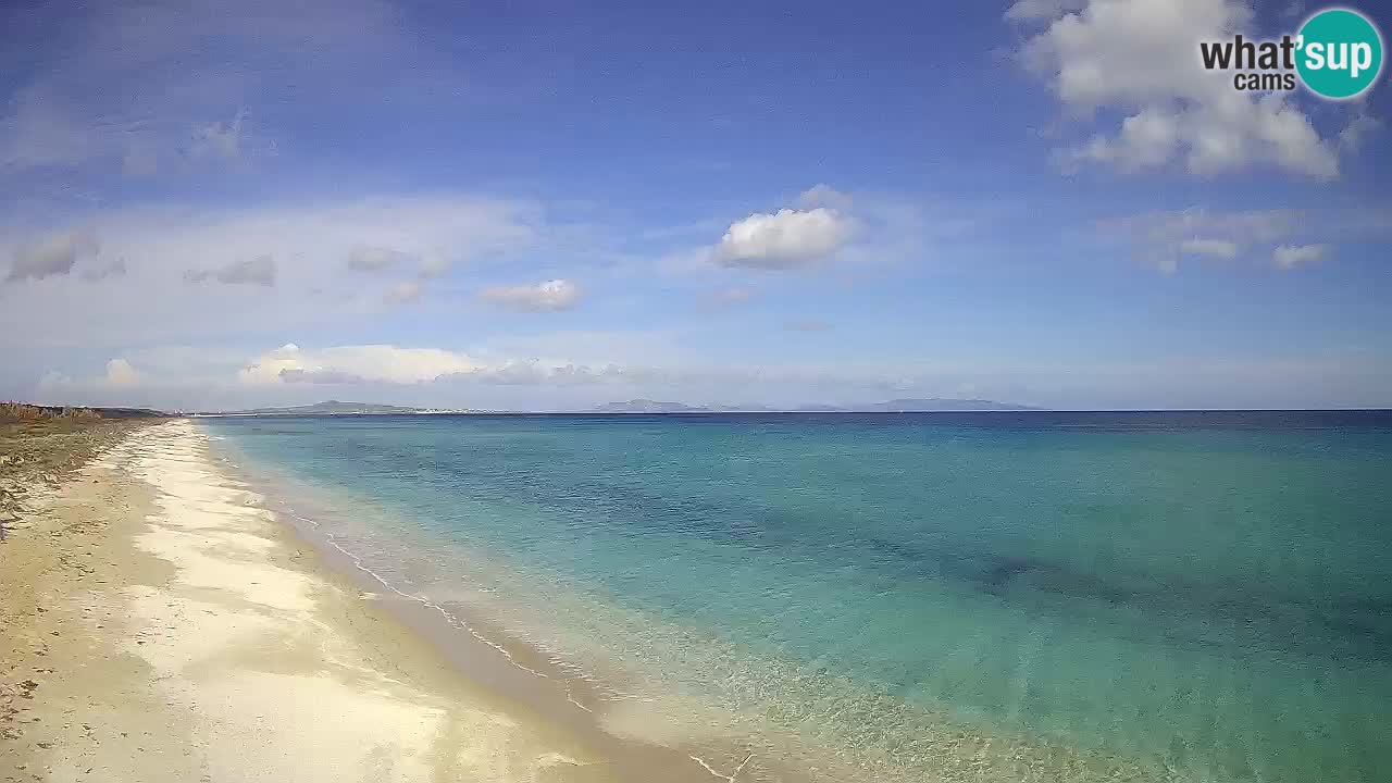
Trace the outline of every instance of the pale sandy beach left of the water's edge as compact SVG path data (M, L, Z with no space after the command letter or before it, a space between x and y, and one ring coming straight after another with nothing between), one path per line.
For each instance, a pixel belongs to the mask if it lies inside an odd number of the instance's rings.
M4 780L713 779L461 676L191 422L109 440L0 543Z

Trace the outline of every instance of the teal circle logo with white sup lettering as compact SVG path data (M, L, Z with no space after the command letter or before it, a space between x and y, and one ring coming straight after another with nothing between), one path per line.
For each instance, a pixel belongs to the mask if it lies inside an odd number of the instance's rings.
M1296 47L1300 79L1334 100L1363 95L1382 71L1382 35L1367 17L1349 8L1327 8L1310 17Z

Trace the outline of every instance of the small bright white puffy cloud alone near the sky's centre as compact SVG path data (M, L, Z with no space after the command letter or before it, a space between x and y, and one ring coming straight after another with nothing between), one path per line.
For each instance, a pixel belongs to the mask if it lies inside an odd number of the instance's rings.
M724 266L793 269L835 254L853 233L851 217L825 206L756 212L729 226L714 258Z

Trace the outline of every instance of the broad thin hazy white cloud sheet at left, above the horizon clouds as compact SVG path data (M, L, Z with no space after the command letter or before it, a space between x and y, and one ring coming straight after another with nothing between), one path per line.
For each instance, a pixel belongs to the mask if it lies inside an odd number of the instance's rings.
M26 339L49 346L124 350L170 334L226 339L356 319L381 311L386 291L344 274L355 248L391 248L411 258L441 252L461 261L507 256L546 235L540 215L536 203L458 194L241 209L132 206L86 215L77 220L79 230L61 231L7 226L0 213L0 259L35 259L22 261L18 277L71 272L6 298L0 346L15 334L11 325L24 323L43 325L42 334ZM93 242L100 237L102 252L77 254L68 268L68 248L84 247L84 235ZM52 265L38 263L40 256ZM258 261L263 258L271 261ZM103 265L111 259L124 262ZM7 272L0 268L0 276ZM274 286L264 284L270 280ZM14 287L0 284L0 295ZM258 295L230 295L230 288ZM63 318L54 318L58 312Z

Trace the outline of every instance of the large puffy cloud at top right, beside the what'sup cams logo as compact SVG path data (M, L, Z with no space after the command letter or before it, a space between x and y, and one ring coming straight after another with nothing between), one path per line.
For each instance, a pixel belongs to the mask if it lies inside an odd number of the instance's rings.
M1194 174L1247 166L1331 180L1339 145L1321 138L1282 93L1244 93L1205 71L1201 40L1251 33L1253 11L1239 0L1022 0L1008 18L1043 22L1020 50L1079 116L1098 109L1123 117L1111 132L1059 150L1065 166L1101 163L1123 171L1182 163Z

